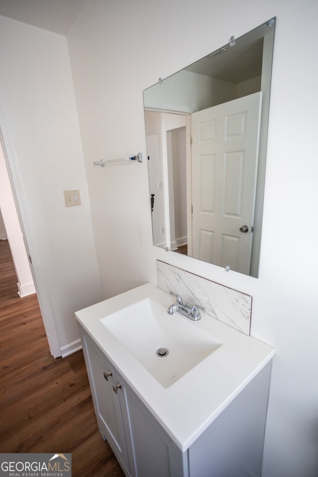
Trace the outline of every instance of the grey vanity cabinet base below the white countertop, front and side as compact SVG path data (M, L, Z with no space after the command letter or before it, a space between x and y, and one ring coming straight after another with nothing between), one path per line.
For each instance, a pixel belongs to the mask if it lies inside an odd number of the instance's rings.
M271 361L182 451L87 332L79 328L99 430L128 477L260 476ZM203 380L197 393L204 392ZM168 405L173 409L182 402ZM184 419L195 406L193 401Z

